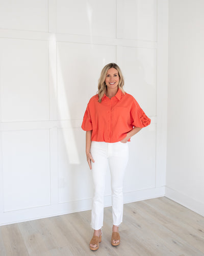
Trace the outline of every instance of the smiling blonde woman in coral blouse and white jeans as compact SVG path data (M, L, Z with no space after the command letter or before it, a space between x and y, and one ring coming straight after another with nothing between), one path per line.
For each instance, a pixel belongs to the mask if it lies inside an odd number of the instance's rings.
M123 177L129 148L127 141L142 127L150 124L133 96L123 90L124 79L115 63L106 65L98 80L98 93L87 105L82 123L86 131L86 156L92 169L94 197L91 227L94 229L90 249L97 250L101 242L104 219L104 191L109 164L112 189L113 228L111 244L120 243L118 226L123 215Z

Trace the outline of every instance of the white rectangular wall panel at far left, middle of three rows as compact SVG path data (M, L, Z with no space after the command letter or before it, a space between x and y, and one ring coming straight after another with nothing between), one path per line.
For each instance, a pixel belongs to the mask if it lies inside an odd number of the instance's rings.
M0 38L2 122L49 120L48 42Z

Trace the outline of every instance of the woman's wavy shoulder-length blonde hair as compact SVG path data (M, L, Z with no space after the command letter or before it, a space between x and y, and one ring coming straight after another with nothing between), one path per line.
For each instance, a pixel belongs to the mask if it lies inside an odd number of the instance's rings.
M121 72L120 68L118 67L118 65L116 63L109 63L103 68L103 70L101 71L101 74L100 74L100 78L98 79L98 92L97 92L98 93L98 102L101 102L101 99L103 98L104 94L106 93L107 86L105 83L105 79L106 79L107 71L111 68L114 68L118 71L118 75L119 75L118 89L120 89L122 91L122 93L125 94L124 90L122 89L122 87L124 86L124 78L122 76L122 72Z

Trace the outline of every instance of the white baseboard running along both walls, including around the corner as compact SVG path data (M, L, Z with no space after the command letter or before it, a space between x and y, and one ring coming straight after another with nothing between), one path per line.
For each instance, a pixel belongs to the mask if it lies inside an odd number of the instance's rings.
M204 216L203 202L198 202L195 199L192 199L168 186L124 192L124 204L163 196L166 196L167 198L197 212L197 214ZM0 225L7 225L23 221L70 214L78 211L90 210L91 201L91 199L85 199L57 205L47 205L36 208L4 212L0 214ZM110 195L105 196L105 207L108 206L111 206Z

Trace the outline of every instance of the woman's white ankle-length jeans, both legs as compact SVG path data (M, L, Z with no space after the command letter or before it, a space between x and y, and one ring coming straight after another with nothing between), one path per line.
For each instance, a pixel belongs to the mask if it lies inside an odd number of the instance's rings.
M91 227L95 230L100 229L104 221L104 192L108 164L111 173L113 225L118 226L122 222L122 187L125 168L129 158L127 143L91 142L90 152L95 161L94 163L91 162L94 186Z

